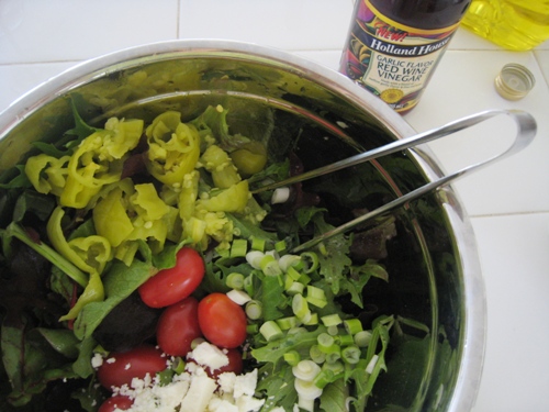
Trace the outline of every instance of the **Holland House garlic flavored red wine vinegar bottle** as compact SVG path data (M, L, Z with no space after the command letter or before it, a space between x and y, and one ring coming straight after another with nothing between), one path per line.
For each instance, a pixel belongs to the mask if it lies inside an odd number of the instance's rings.
M412 110L470 0L356 0L339 71L399 113Z

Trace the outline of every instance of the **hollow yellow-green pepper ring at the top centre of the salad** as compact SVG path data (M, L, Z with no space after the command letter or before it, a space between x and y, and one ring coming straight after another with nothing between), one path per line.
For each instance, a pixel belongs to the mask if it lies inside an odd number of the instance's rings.
M166 185L181 182L200 157L197 129L181 122L181 113L168 111L158 115L146 130L147 169Z

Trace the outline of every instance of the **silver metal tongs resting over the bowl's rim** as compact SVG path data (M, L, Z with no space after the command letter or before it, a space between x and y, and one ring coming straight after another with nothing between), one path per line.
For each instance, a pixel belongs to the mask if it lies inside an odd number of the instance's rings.
M360 223L363 223L370 219L373 219L373 218L376 218L384 212L388 212L396 207L403 205L403 204L410 202L411 200L417 199L417 198L419 198L419 197L422 197L422 196L424 196L433 190L436 190L445 185L448 185L450 181L456 180L459 177L464 176L466 174L472 172L474 170L479 170L480 168L485 167L489 164L494 163L495 160L501 160L505 157L508 157L513 154L518 153L519 151L525 148L528 144L530 144L530 142L534 140L534 136L536 135L537 125L536 125L535 119L529 113L520 111L520 110L488 110L488 111L479 112L479 113L472 114L470 116L466 116L466 118L456 120L453 122L447 123L446 125L442 125L438 129L434 129L434 130L430 130L430 131L427 131L424 133L419 133L419 134L416 134L416 135L413 135L410 137L405 137L405 138L389 143L384 146L377 147L377 148L373 148L371 151L360 153L358 155L355 155L355 156L348 157L346 159L333 163L330 165L323 166L323 167L320 167L317 169L303 172L301 175L292 176L288 179L278 181L276 183L269 183L269 185L262 186L258 189L255 189L253 192L259 193L259 192L262 192L266 190L272 190L272 189L277 189L277 188L281 188L281 187L287 187L287 186L296 183L299 181L304 181L304 180L309 180L309 179L312 179L312 178L315 178L318 176L327 175L327 174L344 169L344 168L349 167L349 166L355 166L355 165L361 164L363 162L373 160L378 157L389 155L389 154L392 154L392 153L395 153L399 151L412 148L412 147L417 146L419 144L433 142L437 138L440 138L440 137L450 135L452 133L459 132L463 129L473 126L478 123L481 123L485 120L489 120L489 119L496 116L496 115L500 115L500 114L506 114L506 115L513 118L513 120L517 124L517 134L515 136L515 141L513 142L511 147L508 147L505 152L503 152L498 155L495 155L495 156L493 156L484 162L463 167L462 169L459 169L452 174L442 176L437 180L428 182L428 183L426 183L426 185L424 185L424 186L422 186L422 187L419 187L419 188L417 188L417 189L415 189L406 194L403 194L403 196L396 198L395 200L393 200L389 203L383 204L382 207L380 207L371 212L362 214L359 218L354 219L354 220L351 220L351 221L349 221L349 222L347 222L338 227L335 227L334 230L332 230L329 232L326 232L324 234L315 236L311 241L302 243L301 245L294 247L292 252L295 253L295 252L304 250L304 249L307 249L307 248L310 248L310 247L318 244L320 242L323 242L332 236L345 233Z

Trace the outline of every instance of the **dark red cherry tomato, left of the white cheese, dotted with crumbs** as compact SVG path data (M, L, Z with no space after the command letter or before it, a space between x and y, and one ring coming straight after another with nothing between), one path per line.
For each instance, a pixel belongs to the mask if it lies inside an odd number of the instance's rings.
M111 353L98 369L99 382L111 389L130 385L133 378L152 377L166 369L166 356L150 345L137 346L123 353Z

